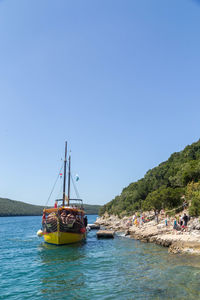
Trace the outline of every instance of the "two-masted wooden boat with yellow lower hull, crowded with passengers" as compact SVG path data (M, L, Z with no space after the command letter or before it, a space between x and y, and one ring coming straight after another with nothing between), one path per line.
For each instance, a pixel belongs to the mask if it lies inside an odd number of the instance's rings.
M48 244L66 245L86 239L87 217L84 213L82 199L70 198L71 155L68 159L68 194L66 187L67 142L65 142L63 197L55 201L54 207L44 208L42 229L37 235L44 237Z

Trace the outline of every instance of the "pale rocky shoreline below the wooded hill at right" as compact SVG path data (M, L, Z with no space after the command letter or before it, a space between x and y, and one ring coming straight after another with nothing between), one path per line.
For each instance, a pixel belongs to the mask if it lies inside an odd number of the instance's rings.
M159 224L155 220L151 220L136 226L132 224L132 217L120 219L117 216L105 214L97 218L95 224L115 232L124 232L130 238L142 242L168 247L170 253L200 254L200 222L198 218L191 218L187 228L183 231L173 229L172 222L166 226L162 218L160 218Z

